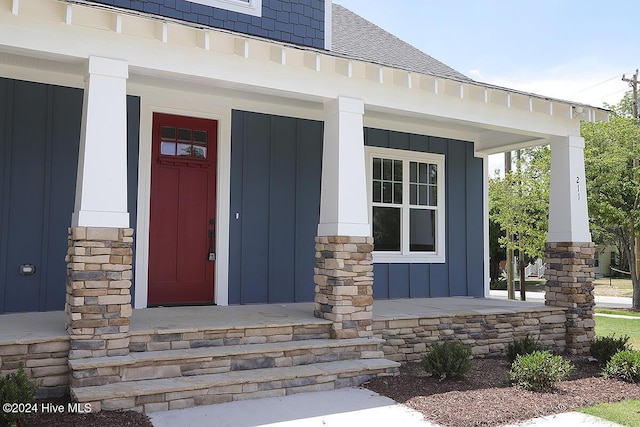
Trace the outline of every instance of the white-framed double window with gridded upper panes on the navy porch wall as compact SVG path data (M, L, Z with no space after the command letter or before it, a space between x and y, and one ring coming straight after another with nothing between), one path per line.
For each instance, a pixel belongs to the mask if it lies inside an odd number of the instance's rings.
M445 262L445 157L367 147L374 262Z

